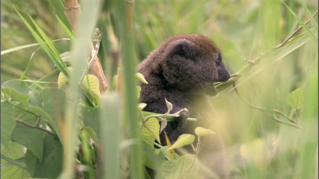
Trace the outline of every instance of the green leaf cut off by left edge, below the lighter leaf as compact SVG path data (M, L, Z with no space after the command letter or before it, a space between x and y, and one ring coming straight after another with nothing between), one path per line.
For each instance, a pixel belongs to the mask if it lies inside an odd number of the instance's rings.
M14 109L8 102L1 102L1 145L8 148L10 136L16 125L13 119Z

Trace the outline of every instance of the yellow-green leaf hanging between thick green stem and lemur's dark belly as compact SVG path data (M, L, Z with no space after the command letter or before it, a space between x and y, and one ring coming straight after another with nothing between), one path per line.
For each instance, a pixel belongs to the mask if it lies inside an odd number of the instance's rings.
M143 140L151 146L154 145L150 141L154 141L155 139L160 143L160 123L157 118L149 118L142 128L141 134ZM149 139L150 141L148 141L147 139Z

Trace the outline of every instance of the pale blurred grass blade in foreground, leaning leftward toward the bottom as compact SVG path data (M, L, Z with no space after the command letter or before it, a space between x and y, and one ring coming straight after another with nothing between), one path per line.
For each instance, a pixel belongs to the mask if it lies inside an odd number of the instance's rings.
M87 58L90 53L91 37L93 29L102 7L101 0L85 0L82 4L83 11L79 16L78 30L75 34L75 41L72 47L72 73L70 80L70 98L77 99L80 97L79 82L87 66ZM65 133L63 138L64 159L63 171L60 179L72 179L74 177L74 157L77 133L75 122L78 121L76 114L77 102L68 103L66 115L64 116Z

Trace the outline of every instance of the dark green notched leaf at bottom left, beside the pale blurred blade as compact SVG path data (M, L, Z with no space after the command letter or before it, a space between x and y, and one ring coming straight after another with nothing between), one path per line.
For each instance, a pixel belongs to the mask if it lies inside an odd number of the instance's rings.
M62 171L63 148L59 139L49 134L44 138L43 161L27 150L25 163L32 178L57 178Z

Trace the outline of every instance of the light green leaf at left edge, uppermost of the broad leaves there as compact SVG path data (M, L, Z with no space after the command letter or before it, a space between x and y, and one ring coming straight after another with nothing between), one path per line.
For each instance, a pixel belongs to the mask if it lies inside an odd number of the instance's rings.
M14 79L6 81L2 84L1 91L6 93L12 100L27 103L29 99L29 91L31 89L25 82Z

